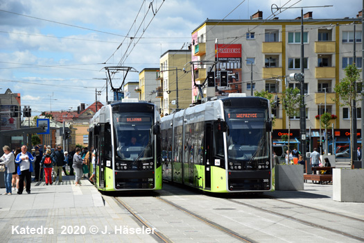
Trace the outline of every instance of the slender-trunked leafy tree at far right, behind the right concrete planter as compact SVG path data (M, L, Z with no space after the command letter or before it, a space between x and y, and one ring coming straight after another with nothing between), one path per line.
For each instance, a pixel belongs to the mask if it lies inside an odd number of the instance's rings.
M353 101L361 101L360 97L358 97L356 93L356 83L360 82L360 72L355 64L349 65L344 69L345 77L341 80L341 82L333 87L333 90L338 94L339 100L336 102L339 103L339 106L349 106L349 114L350 114L350 147L351 151L355 153L355 146L353 142ZM363 85L363 84L361 84ZM355 134L356 135L356 134ZM354 151L354 152L353 152ZM351 164L353 165L353 156L350 159Z

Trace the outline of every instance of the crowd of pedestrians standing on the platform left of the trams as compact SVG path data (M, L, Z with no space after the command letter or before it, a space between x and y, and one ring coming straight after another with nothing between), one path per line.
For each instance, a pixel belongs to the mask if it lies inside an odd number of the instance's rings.
M85 160L80 156L81 149L70 153L62 151L61 146L57 146L55 151L51 151L51 146L45 146L43 151L40 146L35 146L34 152L28 151L28 146L11 151L10 146L3 146L3 156L0 157L0 165L5 167L4 181L6 192L3 195L23 194L24 190L31 193L31 173L34 171L34 181L42 181L43 172L46 185L52 185L58 177L62 182L62 171L67 175L65 165L70 166L69 175L73 176L76 171L76 185L80 185L80 178L83 176L83 164ZM34 168L33 168L34 163Z

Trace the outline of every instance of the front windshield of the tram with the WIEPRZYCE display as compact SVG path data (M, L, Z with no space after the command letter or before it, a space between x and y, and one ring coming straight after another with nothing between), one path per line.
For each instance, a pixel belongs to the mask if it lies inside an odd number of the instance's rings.
M259 162L269 158L267 110L228 108L225 117L228 161L240 163L242 169L257 169Z

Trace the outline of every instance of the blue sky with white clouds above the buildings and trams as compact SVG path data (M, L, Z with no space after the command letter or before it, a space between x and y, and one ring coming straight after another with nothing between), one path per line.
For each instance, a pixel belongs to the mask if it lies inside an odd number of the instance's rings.
M138 72L159 67L160 56L187 49L191 33L208 19L263 19L272 6L304 8L313 19L356 17L359 0L0 0L0 93L21 94L32 115L77 110L80 103L105 104L105 69L123 65ZM300 8L276 12L279 19L300 16ZM138 82L138 72L125 82ZM123 73L116 74L119 87ZM109 100L112 96L109 85Z

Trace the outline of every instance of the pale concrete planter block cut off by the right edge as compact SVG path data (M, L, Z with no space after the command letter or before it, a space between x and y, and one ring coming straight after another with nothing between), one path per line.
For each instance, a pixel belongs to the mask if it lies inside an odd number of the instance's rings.
M364 169L333 169L333 200L364 203Z

